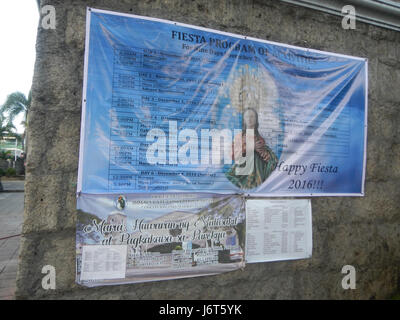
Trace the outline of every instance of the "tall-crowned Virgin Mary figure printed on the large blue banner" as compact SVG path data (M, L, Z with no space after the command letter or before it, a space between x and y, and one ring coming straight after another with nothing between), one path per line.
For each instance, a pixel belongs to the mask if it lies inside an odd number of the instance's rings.
M275 170L278 157L267 145L265 139L259 132L259 115L257 110L263 108L262 92L265 83L254 74L249 73L248 68L234 82L231 88L231 103L237 110L242 111L242 132L234 137L232 145L232 159L234 164L225 172L228 180L240 189L253 189L260 186ZM235 97L237 97L235 101ZM246 132L252 129L254 133L254 144L247 146ZM250 136L251 137L251 136ZM248 138L247 138L248 139ZM247 154L250 153L250 154ZM253 161L252 170L248 174L238 174L246 166L246 163L235 163L235 160L246 158L246 161ZM248 165L248 164L247 164Z

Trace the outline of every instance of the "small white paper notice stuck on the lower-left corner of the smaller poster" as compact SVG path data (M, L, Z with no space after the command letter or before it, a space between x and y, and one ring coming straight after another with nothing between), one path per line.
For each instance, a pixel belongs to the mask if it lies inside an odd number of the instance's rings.
M125 278L126 255L126 245L83 246L81 280Z

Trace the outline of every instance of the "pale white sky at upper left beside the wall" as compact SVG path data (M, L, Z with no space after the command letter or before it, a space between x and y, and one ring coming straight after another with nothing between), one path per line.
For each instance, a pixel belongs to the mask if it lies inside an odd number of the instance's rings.
M7 95L21 91L26 96L32 86L39 10L35 0L1 1L0 6L0 105ZM14 121L18 133L22 115Z

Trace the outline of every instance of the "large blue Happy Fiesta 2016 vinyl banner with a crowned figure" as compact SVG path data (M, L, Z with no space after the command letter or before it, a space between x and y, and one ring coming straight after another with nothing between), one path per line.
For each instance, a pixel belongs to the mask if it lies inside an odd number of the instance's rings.
M79 192L363 195L366 59L88 10Z

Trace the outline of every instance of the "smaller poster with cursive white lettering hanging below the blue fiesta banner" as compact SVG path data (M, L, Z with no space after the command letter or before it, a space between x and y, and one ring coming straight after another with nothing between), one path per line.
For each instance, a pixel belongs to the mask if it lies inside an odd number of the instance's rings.
M80 194L77 203L79 284L197 277L245 266L242 196Z

